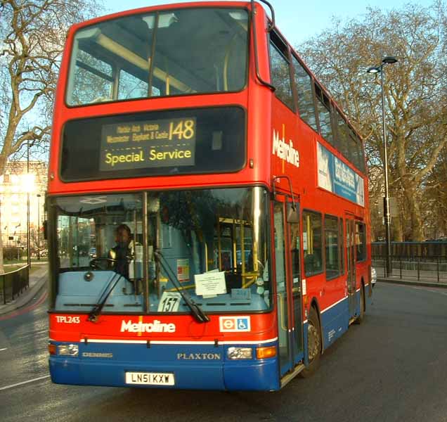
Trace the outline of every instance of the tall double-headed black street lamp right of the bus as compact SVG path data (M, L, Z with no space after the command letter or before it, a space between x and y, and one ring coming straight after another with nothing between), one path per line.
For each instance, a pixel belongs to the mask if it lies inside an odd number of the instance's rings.
M385 122L385 99L384 99L384 65L397 63L393 56L386 56L382 59L382 64L377 67L369 68L366 72L377 75L380 73L380 88L382 91L382 129L383 129L383 151L384 151L384 177L385 177L385 197L383 201L383 213L385 219L385 240L387 242L387 276L391 276L391 215L389 212L389 188L388 188L388 153L387 153L387 126Z

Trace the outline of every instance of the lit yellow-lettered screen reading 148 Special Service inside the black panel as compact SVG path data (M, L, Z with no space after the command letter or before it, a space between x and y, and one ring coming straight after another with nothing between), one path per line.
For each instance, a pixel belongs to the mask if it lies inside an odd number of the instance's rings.
M99 170L195 165L195 117L105 124Z

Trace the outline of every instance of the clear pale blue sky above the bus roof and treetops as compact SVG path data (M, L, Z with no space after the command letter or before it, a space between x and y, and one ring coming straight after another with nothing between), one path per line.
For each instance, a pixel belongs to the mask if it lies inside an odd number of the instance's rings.
M158 4L187 3L190 0L108 0L106 8L110 13L157 6ZM342 21L361 18L368 6L389 11L401 9L405 4L421 6L433 4L433 0L270 0L275 9L276 26L293 46L319 34L332 26L332 18Z

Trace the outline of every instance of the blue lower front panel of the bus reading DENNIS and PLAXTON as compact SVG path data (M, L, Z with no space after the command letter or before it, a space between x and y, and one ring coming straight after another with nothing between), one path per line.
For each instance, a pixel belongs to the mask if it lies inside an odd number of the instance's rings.
M51 343L56 346L67 344ZM53 383L200 390L265 391L280 388L276 357L230 360L226 359L228 347L224 345L77 344L78 357L50 357ZM240 346L253 347L256 356L254 346ZM172 373L174 385L127 384L127 372Z

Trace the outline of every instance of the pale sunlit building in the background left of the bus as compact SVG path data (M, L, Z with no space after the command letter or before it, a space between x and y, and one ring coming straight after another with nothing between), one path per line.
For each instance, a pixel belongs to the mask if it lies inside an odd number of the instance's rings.
M30 161L27 173L26 161L8 162L0 177L1 236L4 248L27 245L27 193L30 193L30 250L46 253L42 221L48 166L44 161ZM39 245L39 247L38 247Z

